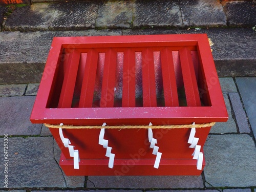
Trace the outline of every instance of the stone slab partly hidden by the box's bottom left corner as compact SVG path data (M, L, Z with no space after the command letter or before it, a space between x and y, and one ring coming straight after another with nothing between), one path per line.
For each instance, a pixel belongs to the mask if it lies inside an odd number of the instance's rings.
M60 154L61 154L61 150L57 144L57 142L55 141L55 139L53 140L53 150L54 150L54 159L56 160L57 163L59 163L59 159L60 159ZM71 188L75 188L75 187L84 187L84 182L86 180L86 177L84 176L66 176L65 173L63 172L63 177L65 178L67 187L71 187Z

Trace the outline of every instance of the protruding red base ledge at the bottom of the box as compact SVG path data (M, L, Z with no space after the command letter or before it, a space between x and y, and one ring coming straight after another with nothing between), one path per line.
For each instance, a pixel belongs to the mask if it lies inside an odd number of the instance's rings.
M159 168L153 168L154 159L115 159L113 169L108 167L108 159L82 159L79 169L73 169L73 160L66 159L62 154L60 166L67 176L159 176L159 175L198 175L197 161L194 159L166 159L161 160ZM205 166L205 158L203 166Z

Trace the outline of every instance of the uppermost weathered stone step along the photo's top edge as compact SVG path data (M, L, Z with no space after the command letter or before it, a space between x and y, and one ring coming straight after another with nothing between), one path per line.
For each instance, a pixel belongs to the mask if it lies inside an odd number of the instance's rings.
M253 27L256 24L255 3L249 1L222 4L212 0L66 2L35 3L9 10L4 30ZM3 23L1 9L4 7L0 7Z

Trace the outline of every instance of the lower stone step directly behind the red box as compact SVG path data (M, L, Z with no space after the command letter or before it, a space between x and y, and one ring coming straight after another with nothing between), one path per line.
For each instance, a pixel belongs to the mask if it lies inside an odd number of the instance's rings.
M250 28L84 30L0 33L0 84L40 82L55 36L207 33L221 77L256 76L256 36Z

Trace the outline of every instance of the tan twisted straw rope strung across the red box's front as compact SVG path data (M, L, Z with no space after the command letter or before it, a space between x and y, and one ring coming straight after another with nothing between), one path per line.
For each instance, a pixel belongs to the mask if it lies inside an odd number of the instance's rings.
M50 128L62 128L62 129L181 129L181 128L201 128L213 126L215 122L204 123L204 124L182 124L182 125L115 125L115 126L90 126L90 125L53 125L45 123L45 126Z

